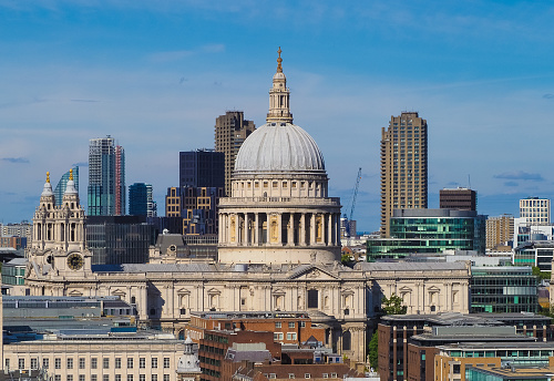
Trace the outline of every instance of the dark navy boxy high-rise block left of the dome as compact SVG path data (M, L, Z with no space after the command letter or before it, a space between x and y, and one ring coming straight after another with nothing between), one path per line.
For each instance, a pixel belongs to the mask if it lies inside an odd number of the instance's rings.
M178 154L178 185L225 187L225 154L214 150L196 150Z

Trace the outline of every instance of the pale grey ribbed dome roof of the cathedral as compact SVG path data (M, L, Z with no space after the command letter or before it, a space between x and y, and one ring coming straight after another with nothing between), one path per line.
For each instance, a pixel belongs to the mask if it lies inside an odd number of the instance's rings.
M236 172L325 172L324 155L314 138L290 123L267 123L240 146Z

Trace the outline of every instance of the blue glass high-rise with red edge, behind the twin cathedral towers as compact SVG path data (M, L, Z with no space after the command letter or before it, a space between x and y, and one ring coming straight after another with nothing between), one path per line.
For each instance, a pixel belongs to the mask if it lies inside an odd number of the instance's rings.
M107 135L89 145L89 216L125 214L125 152Z

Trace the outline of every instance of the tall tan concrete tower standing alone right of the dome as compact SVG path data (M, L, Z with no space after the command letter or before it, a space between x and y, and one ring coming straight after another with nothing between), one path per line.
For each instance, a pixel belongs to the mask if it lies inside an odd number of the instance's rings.
M393 209L427 208L427 121L417 112L391 116L381 130L381 236Z

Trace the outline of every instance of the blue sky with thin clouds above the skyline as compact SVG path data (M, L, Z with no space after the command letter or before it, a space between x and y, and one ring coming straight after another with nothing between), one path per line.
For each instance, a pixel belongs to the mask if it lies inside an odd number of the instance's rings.
M429 124L429 207L471 182L480 213L517 214L552 198L553 19L551 1L0 0L0 222L30 219L45 172L55 185L107 134L163 210L217 115L265 122L279 45L348 210L362 167L359 230L379 226L381 127L401 111Z

